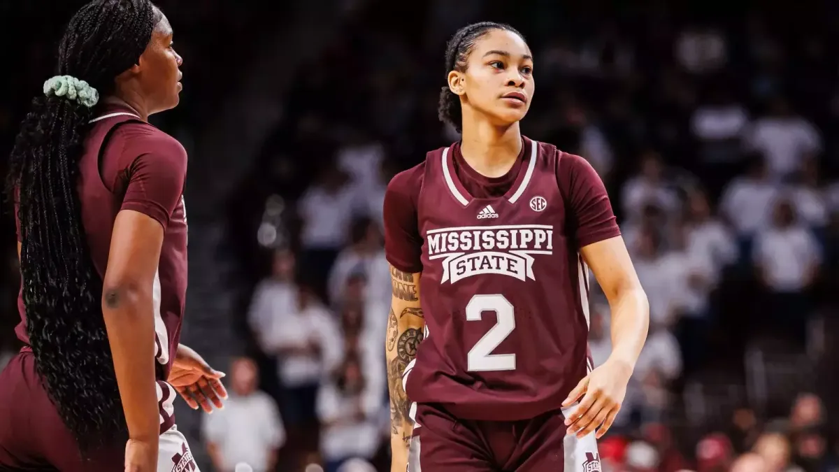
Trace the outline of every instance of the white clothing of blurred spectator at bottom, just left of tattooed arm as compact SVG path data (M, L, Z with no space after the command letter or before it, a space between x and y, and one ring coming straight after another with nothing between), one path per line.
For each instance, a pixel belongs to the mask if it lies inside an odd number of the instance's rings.
M358 396L344 394L332 379L320 385L317 415L325 425L320 432L320 454L324 459L370 459L376 454L381 438L378 413L383 405L383 385L380 382L371 385L367 380ZM356 417L359 407L363 419Z

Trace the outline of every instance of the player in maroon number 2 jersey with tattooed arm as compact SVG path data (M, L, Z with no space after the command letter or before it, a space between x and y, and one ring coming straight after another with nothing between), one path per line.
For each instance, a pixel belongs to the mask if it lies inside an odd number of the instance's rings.
M446 62L440 118L462 140L384 199L392 470L600 470L595 437L623 401L647 297L591 165L519 132L534 96L521 34L472 24ZM612 307L595 370L588 268Z

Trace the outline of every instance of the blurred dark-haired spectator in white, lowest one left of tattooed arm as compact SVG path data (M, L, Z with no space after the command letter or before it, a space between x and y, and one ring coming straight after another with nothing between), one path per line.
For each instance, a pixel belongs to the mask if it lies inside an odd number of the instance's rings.
M352 354L320 386L317 414L323 428L320 455L326 472L336 472L347 459L372 459L376 454L382 386L367 383L362 363Z

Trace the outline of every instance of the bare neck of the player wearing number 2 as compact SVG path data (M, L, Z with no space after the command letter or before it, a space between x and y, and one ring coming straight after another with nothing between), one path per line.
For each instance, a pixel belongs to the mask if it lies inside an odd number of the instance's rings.
M461 155L466 164L482 176L506 175L513 168L521 150L519 123L506 128L498 128L486 122L463 127Z

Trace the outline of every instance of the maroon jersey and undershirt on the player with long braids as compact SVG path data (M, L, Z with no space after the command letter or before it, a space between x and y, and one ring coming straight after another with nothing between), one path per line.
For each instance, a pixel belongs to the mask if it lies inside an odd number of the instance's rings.
M93 123L79 165L82 223L99 275L105 276L117 212L141 212L158 221L165 231L154 277L156 375L163 433L175 424L175 390L165 380L175 358L186 298L186 151L168 134L140 121L130 108L112 106ZM18 311L21 323L15 332L29 344L23 290L18 294Z

